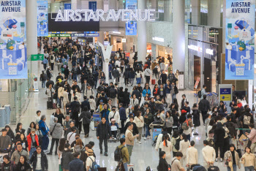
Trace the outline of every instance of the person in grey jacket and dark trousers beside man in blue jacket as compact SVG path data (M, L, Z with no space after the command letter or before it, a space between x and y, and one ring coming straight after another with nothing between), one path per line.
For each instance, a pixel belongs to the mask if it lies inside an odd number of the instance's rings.
M62 137L62 129L61 123L58 123L58 118L54 118L54 123L50 126L50 135L52 136L51 145L50 145L50 153L48 155L53 154L53 146L55 143L56 149L55 149L55 155L57 155L58 146L59 146L59 140Z

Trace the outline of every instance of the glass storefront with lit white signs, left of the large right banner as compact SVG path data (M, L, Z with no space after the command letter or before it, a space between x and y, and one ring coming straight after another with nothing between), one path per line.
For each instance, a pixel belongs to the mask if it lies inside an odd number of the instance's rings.
M189 88L198 89L206 85L207 92L216 92L219 83L219 59L222 53L222 28L189 26Z

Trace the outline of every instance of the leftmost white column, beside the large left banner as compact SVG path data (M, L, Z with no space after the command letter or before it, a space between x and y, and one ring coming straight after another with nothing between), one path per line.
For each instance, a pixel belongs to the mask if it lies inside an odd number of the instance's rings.
M37 0L26 0L26 45L27 57L31 54L37 54ZM31 63L30 63L31 62ZM31 65L31 79L33 75L37 76L38 61L29 61Z

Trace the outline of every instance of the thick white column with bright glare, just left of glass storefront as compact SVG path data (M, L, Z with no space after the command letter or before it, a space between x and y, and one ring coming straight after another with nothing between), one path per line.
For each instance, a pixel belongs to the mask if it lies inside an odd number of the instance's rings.
M173 70L185 68L185 0L173 1Z

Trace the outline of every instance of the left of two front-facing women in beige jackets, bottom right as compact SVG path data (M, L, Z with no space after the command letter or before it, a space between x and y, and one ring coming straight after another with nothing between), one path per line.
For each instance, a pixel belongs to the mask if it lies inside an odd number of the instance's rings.
M233 171L237 170L237 166L239 169L241 168L238 153L235 151L235 145L230 144L230 151L226 151L226 153L224 154L224 159L225 161L228 161L230 163L228 165L233 167ZM235 161L233 159L235 159ZM227 167L227 170L231 170L231 168Z

